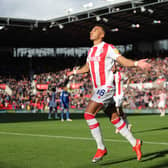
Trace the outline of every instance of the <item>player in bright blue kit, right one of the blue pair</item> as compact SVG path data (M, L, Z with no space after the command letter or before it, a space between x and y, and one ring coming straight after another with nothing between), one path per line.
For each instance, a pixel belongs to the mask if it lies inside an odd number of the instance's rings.
M64 121L64 110L66 110L66 121L72 121L69 116L69 93L68 88L65 86L60 94L61 103L61 121Z

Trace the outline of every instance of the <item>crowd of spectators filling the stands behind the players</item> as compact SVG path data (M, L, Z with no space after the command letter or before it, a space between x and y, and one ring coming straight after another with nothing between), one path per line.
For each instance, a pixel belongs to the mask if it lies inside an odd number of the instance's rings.
M52 58L53 59L53 58ZM70 57L68 58L69 60ZM65 59L66 60L66 59ZM85 57L75 59L75 65L81 66L84 63ZM155 83L155 88L131 87L128 85L124 89L127 108L157 108L158 94L160 91L159 85L168 79L168 57L150 58L148 61L152 63L152 69L146 74L137 68L122 68L124 73L124 84L130 80L130 84ZM45 62L45 61L44 61ZM60 59L62 62L62 59ZM73 60L70 61L72 63ZM80 62L80 64L79 64ZM33 75L32 78L22 75L17 79L7 75L0 76L0 84L6 84L12 90L9 95L3 89L0 89L0 109L22 109L31 110L34 112L48 110L49 94L53 87L57 88L57 101L59 106L59 94L62 84L66 80L66 74L72 68L72 64L66 66L68 61L64 61L64 66L60 66L60 70L52 72L42 72ZM59 65L59 62L57 62ZM73 64L74 65L74 64ZM67 67L67 68L65 68ZM44 67L41 67L41 69ZM48 69L49 71L50 69ZM40 70L39 70L40 71ZM38 90L37 84L47 84L48 88ZM158 86L157 86L158 85ZM76 75L72 77L69 83L70 92L70 107L84 108L91 97L92 84L90 74ZM168 93L168 91L166 90ZM168 94L167 94L168 95Z

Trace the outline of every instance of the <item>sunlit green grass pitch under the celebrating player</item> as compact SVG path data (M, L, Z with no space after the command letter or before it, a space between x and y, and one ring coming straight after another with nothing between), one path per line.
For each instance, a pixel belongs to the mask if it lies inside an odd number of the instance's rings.
M128 116L144 141L139 162L108 118L98 117L108 155L91 163L95 141L83 118L0 123L0 168L168 168L168 116Z

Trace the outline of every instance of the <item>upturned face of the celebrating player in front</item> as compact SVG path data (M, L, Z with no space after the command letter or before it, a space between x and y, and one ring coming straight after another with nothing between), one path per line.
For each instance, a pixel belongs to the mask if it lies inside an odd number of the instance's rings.
M95 26L92 28L90 31L90 40L95 41L95 40L101 40L104 38L104 31L101 27Z

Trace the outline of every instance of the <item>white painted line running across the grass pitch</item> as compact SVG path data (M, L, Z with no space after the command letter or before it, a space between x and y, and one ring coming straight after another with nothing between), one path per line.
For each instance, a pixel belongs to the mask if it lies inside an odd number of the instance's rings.
M93 138L85 138L85 137L71 137L71 136L44 135L44 134L25 134L25 133L17 133L17 132L0 132L0 134L2 134L2 135L15 135L15 136L31 136L31 137L45 137L45 138L60 138L60 139L93 141ZM104 139L104 141L128 143L128 141L118 140L118 139ZM151 145L168 145L167 142L143 141L143 143L151 144Z

